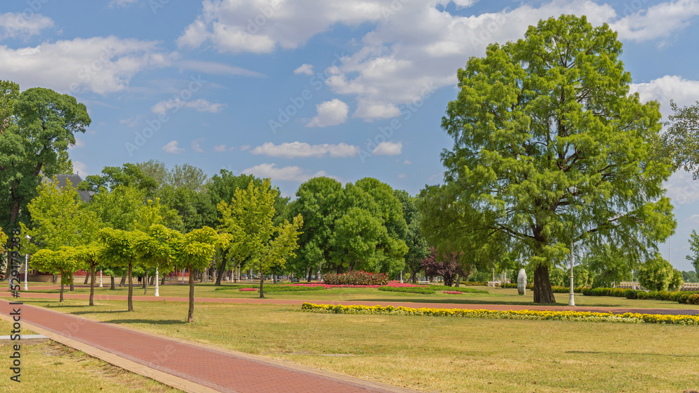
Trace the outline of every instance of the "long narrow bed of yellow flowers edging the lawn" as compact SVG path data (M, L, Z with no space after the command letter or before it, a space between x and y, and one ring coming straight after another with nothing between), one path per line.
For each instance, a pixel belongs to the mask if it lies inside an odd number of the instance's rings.
M454 316L466 318L496 318L522 320L581 320L587 322L665 323L668 325L699 325L699 316L663 316L639 313L591 313L586 311L538 311L538 310L467 310L467 309L411 309L394 306L339 306L333 304L303 303L301 309L319 313L336 314L393 314L401 316Z

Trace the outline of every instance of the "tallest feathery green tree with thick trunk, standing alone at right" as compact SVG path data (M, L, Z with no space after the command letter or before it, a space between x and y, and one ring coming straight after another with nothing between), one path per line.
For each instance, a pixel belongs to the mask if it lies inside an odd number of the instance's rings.
M534 269L536 303L555 302L549 268L571 242L655 253L676 225L663 190L671 165L655 158L658 103L629 94L620 54L607 24L562 15L469 59L442 118L454 139L445 184L423 194L428 240L513 251Z

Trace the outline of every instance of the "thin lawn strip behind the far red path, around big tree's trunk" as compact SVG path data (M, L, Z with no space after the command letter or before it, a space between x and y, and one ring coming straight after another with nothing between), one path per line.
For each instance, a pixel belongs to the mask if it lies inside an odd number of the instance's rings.
M251 283L244 283L251 285ZM214 286L210 283L196 284L194 296L196 297L236 297L243 299L252 299L259 297L258 292L239 292L236 290L239 284L226 283L223 288L231 288L231 290L216 290L220 286ZM314 290L303 292L266 292L265 297L269 299L301 299L309 302L322 301L366 301L366 302L424 302L424 303L457 303L457 304L521 304L532 305L533 294L531 290L527 291L527 295L517 295L517 289L508 288L489 288L483 286L468 286L466 288L474 288L478 290L488 290L487 294L463 293L461 295L449 295L438 291L434 295L420 295L416 293L404 292L385 292L376 288L331 288L326 290ZM115 288L110 290L106 288L95 288L96 295L128 295L129 288ZM459 290L459 288L454 288ZM59 290L32 290L29 292L57 293ZM189 287L187 284L167 284L159 289L161 297L187 297L189 296ZM65 293L71 293L66 289ZM89 294L89 288L76 288L72 293ZM152 287L148 289L148 295L152 296L154 290ZM143 288L134 286L134 295L142 296ZM568 306L568 294L556 293L556 305ZM575 304L577 306L603 306L603 307L624 307L624 308L651 308L651 309L696 309L697 306L691 304L679 304L677 302L668 302L662 300L640 300L626 299L624 297L591 297L582 294L575 294Z

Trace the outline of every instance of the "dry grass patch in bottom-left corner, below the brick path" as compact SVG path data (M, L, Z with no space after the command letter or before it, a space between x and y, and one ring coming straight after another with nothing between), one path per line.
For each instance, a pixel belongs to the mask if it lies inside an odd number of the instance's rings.
M0 335L9 335L11 329L10 322L0 320ZM22 329L22 334L33 332ZM11 344L0 344L1 392L181 392L54 341L20 345L22 373L16 383L9 379Z

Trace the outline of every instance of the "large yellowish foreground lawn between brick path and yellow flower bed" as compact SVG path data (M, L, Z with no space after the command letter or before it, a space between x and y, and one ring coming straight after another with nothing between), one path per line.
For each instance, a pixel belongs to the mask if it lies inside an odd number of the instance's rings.
M187 325L186 302L139 302L132 313L123 311L126 302L97 301L89 309L81 300L24 302L425 392L699 389L697 327L205 303L196 305L195 322Z

